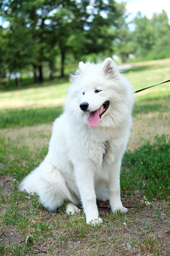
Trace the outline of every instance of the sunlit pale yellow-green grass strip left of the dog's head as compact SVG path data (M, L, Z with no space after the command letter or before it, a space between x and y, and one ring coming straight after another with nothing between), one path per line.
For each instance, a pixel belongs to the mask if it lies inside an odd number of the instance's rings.
M64 103L68 83L0 93L0 109L57 107Z

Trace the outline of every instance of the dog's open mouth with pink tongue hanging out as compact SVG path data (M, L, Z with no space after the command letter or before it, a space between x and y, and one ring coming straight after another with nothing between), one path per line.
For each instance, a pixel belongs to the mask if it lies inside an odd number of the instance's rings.
M87 118L87 123L90 126L95 127L99 123L101 116L106 112L108 107L109 107L109 101L107 100L102 104L102 106L99 109L89 113L89 116Z

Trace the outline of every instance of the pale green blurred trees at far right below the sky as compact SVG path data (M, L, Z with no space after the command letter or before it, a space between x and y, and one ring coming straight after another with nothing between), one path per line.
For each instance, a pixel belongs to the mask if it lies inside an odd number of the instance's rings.
M133 45L138 58L152 60L170 57L170 25L164 10L152 19L138 13L134 22Z

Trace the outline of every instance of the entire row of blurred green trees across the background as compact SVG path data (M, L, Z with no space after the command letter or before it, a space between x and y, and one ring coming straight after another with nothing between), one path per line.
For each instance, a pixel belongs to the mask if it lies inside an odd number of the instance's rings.
M23 72L41 82L44 73L53 78L60 67L63 77L68 64L88 58L170 57L166 12L152 19L138 13L130 29L125 5L114 0L0 0L0 78L13 74L19 88Z

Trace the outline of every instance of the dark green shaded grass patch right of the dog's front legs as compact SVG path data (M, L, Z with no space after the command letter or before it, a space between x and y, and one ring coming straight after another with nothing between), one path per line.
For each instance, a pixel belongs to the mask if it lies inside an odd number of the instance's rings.
M126 152L121 172L122 193L140 190L149 201L167 199L170 191L170 140L156 137L133 153Z

